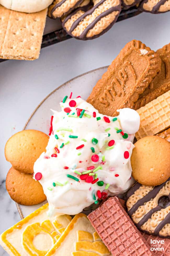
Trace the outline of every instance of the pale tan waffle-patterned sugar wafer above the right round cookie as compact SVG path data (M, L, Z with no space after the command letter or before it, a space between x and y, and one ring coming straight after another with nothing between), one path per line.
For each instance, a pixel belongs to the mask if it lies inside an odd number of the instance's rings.
M170 127L170 91L137 110L140 127L135 134L137 140L160 133Z

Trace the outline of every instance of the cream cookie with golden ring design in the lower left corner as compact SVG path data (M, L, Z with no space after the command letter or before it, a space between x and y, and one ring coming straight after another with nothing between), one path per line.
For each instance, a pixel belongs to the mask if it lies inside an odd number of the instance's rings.
M10 256L44 256L71 221L69 215L48 217L48 203L9 228L0 244Z

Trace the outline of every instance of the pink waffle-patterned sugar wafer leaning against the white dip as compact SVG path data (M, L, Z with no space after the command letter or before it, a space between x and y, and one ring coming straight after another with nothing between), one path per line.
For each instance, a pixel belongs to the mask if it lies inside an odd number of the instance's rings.
M154 255L117 197L109 198L88 218L113 255Z

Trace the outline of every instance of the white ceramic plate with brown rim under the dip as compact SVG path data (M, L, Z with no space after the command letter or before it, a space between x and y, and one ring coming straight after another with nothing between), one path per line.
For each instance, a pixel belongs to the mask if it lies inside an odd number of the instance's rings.
M26 122L23 129L35 129L40 130L44 133L49 132L50 117L52 112L50 109L60 110L59 102L64 98L65 95L70 95L73 92L73 98L80 95L84 100L88 98L93 87L101 76L106 72L106 67L101 67L77 76L70 81L59 86L53 92L51 92L35 109L28 121ZM26 217L31 212L42 206L43 202L35 206L23 206L16 204L21 218Z

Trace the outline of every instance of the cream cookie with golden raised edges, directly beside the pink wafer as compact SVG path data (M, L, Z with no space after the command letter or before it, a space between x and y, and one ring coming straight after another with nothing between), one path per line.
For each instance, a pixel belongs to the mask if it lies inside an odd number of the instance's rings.
M79 213L46 256L113 256L87 216Z

